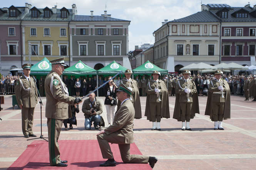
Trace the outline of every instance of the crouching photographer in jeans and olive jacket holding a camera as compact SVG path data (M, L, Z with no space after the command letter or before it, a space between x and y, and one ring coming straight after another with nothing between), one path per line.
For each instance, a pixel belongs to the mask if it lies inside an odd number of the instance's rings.
M103 112L103 107L102 102L96 99L94 92L89 95L89 99L85 99L82 106L82 112L85 117L85 129L90 130L92 122L94 122L94 128L99 129L98 125L101 119L100 114Z

